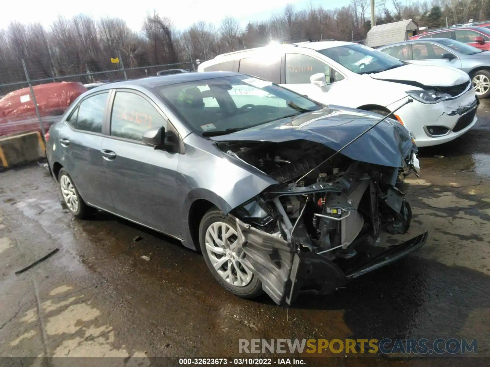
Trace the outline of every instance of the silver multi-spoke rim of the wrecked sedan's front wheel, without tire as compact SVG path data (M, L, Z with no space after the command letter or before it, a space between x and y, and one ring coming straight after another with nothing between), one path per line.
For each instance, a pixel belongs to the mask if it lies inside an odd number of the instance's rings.
M229 224L215 222L206 229L206 252L218 274L228 283L245 287L252 272L244 265L244 252L238 249L237 232Z

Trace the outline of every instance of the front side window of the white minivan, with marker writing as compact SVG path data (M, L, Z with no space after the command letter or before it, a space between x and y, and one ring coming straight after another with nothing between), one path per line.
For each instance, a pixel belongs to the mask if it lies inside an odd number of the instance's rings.
M309 84L310 76L322 72L327 83L338 82L343 75L311 56L286 54L286 84Z

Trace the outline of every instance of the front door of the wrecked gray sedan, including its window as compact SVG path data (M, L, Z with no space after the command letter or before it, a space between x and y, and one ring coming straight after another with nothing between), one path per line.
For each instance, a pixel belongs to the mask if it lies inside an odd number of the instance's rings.
M111 102L109 136L100 149L115 213L175 235L180 228L175 181L179 154L142 141L149 129L173 127L144 93L118 89Z

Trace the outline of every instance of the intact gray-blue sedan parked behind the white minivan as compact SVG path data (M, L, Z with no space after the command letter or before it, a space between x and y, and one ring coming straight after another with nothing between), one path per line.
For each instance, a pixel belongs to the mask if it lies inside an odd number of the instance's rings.
M449 38L399 42L379 48L412 64L453 67L466 71L480 98L490 96L490 51L480 50Z

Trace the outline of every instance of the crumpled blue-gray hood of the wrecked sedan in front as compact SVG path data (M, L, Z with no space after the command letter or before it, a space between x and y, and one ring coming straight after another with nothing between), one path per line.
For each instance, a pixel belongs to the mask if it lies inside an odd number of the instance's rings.
M381 118L361 110L329 106L211 139L234 143L309 140L339 150ZM408 130L397 121L386 119L350 144L342 154L355 161L403 167L405 159L416 149Z

